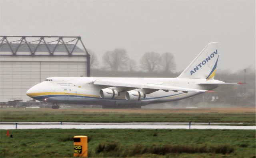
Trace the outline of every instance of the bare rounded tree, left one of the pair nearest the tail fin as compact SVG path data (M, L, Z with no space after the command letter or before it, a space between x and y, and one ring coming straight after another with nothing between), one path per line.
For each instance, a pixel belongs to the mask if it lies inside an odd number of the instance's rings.
M140 59L140 67L148 72L153 72L159 68L161 57L156 52L146 52Z

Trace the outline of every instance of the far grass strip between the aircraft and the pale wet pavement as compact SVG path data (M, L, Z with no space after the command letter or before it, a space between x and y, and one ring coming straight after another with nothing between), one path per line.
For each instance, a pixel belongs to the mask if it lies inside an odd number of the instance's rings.
M245 112L202 112L200 110L148 111L134 109L125 112L86 109L1 109L0 121L31 122L243 122L255 123L255 110ZM145 112L146 111L146 112Z

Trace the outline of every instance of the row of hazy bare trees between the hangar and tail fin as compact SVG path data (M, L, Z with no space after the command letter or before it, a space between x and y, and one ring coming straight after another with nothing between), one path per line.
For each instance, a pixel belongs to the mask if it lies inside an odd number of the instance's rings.
M87 50L90 54L90 66L91 68L108 69L113 72L117 71L145 71L145 72L172 72L176 70L176 63L174 55L170 52L157 53L146 52L139 60L139 65L136 60L131 59L128 53L123 48L117 48L112 51L106 51L102 56L102 65L97 58L96 53L91 50Z

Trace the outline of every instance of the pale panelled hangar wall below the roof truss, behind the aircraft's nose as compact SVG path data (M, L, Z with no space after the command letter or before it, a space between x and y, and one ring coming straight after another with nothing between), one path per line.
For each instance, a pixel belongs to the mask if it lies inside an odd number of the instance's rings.
M0 102L32 100L32 86L48 77L86 77L86 69L86 57L0 56Z

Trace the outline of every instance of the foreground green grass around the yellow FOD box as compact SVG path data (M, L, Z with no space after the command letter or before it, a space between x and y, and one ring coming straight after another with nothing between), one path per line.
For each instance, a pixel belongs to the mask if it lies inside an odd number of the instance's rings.
M75 135L88 136L89 157L255 158L254 130L0 130L1 158L72 157Z

